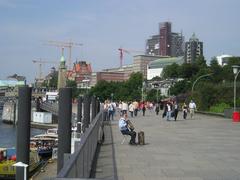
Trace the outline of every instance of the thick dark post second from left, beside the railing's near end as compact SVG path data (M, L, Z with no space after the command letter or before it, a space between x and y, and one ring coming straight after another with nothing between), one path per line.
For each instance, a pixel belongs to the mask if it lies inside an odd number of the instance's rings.
M65 153L71 153L72 88L59 89L57 172L63 167Z

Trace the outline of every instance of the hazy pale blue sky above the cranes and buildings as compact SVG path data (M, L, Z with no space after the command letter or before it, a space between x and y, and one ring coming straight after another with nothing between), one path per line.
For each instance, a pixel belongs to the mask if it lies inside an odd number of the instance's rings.
M72 48L72 61L87 61L93 71L119 67L118 48L144 51L164 21L185 40L195 33L208 62L239 56L239 9L239 0L0 0L0 79L16 73L33 82L39 74L33 60L60 61L61 49L49 41L83 44ZM124 54L123 64L133 55ZM52 66L44 64L43 74Z

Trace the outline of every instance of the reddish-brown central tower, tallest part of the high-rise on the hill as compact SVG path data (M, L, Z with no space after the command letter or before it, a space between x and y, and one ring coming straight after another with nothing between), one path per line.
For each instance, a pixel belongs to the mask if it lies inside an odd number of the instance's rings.
M160 56L171 56L171 22L159 24Z

